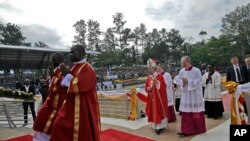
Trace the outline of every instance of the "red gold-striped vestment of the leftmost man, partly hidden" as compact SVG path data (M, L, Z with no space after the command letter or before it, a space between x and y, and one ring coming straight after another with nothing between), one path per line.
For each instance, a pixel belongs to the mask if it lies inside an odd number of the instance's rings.
M52 125L56 119L59 109L66 98L67 89L61 86L63 75L59 68L55 70L55 76L51 80L48 97L40 108L33 129L46 134L51 133Z

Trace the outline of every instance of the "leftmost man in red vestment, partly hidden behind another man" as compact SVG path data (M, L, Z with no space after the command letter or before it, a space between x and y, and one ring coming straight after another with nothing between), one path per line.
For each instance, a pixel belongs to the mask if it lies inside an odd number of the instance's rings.
M61 53L55 53L51 57L55 69L50 71L52 79L49 84L49 95L45 103L39 110L37 118L33 125L34 141L49 140L52 125L55 121L59 109L63 104L63 101L65 100L67 89L61 86L63 75L59 68L59 64L63 63L63 57L64 56Z

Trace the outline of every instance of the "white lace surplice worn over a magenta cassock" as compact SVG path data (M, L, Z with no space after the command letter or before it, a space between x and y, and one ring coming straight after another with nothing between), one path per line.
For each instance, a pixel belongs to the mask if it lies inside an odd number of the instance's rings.
M184 85L182 79L187 78L188 84ZM179 72L177 85L181 88L181 112L202 112L205 111L202 94L201 71L193 67L190 71L184 68Z

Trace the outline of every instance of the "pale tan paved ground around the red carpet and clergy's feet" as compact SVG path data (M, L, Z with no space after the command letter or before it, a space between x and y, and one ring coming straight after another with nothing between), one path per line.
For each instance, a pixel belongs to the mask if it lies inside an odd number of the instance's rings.
M206 118L207 132L204 134L188 137L179 137L176 133L180 129L180 116L177 114L177 121L169 124L169 129L162 132L161 135L156 135L151 129L150 125L147 124L146 119L138 121L127 121L102 118L102 130L113 128L120 131L125 131L131 134L139 135L154 139L156 141L227 141L229 137L229 123L230 118L230 96L228 94L223 96L223 102L226 112L224 117L221 119L210 119ZM39 105L39 104L38 104ZM38 107L38 106L37 106ZM29 125L26 127L19 126L15 129L10 129L8 126L1 124L0 121L0 140L12 138L25 134L32 134L32 118L29 115Z

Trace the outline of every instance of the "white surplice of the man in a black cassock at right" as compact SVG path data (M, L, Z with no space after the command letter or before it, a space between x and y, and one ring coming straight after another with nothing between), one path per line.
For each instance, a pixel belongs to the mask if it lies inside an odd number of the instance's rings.
M204 91L204 99L205 101L222 101L221 98L221 75L219 72L215 71L213 75L211 76L212 78L212 83L206 84L206 80L208 78L209 72L206 72L202 76L202 83L203 86L205 87Z

